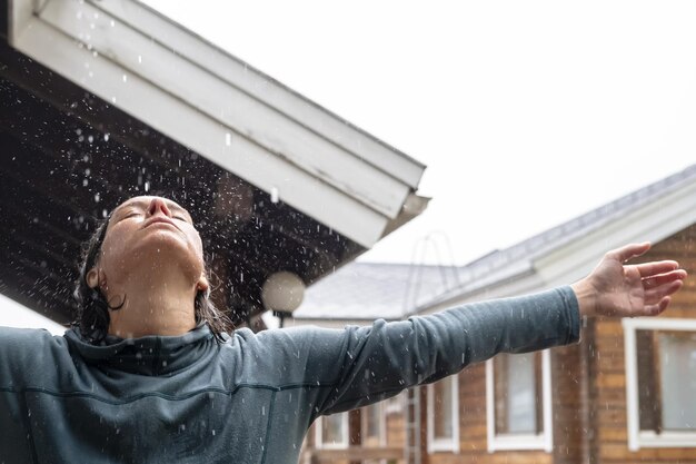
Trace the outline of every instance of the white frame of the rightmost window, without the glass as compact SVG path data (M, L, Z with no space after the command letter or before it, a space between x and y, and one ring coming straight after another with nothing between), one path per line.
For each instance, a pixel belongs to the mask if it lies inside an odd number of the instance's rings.
M683 330L696 332L696 319L636 317L624 318L624 352L626 362L626 419L628 426L628 450L642 447L696 447L696 432L640 431L638 405L638 356L636 330Z

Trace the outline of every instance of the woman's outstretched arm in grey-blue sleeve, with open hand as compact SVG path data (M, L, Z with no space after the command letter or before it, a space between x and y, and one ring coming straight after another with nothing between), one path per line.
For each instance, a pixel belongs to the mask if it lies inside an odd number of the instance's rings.
M579 316L656 315L667 307L686 273L675 261L624 264L648 249L643 244L609 251L586 278L541 294L345 330L268 330L247 340L257 345L249 351L256 358L248 378L260 384L259 373L269 373L282 378L282 388L302 386L316 417L435 382L498 353L575 343ZM266 362L268 368L258 367Z

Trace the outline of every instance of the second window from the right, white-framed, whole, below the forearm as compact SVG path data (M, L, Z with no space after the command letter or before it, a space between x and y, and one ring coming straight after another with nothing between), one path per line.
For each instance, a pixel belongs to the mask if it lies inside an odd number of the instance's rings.
M498 355L486 364L488 451L551 451L548 351Z

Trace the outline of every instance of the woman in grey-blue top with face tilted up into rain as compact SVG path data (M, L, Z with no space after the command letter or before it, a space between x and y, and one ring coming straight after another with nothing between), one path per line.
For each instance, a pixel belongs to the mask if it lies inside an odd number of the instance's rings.
M0 329L0 462L297 462L312 421L496 353L576 343L583 316L653 316L686 273L608 253L538 295L344 330L228 334L200 237L173 201L117 207L87 249L64 337Z

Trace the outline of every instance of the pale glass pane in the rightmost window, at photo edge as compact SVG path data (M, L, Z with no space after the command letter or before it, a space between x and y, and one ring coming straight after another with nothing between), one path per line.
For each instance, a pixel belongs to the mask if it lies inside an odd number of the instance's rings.
M696 334L659 334L663 428L696 430Z

